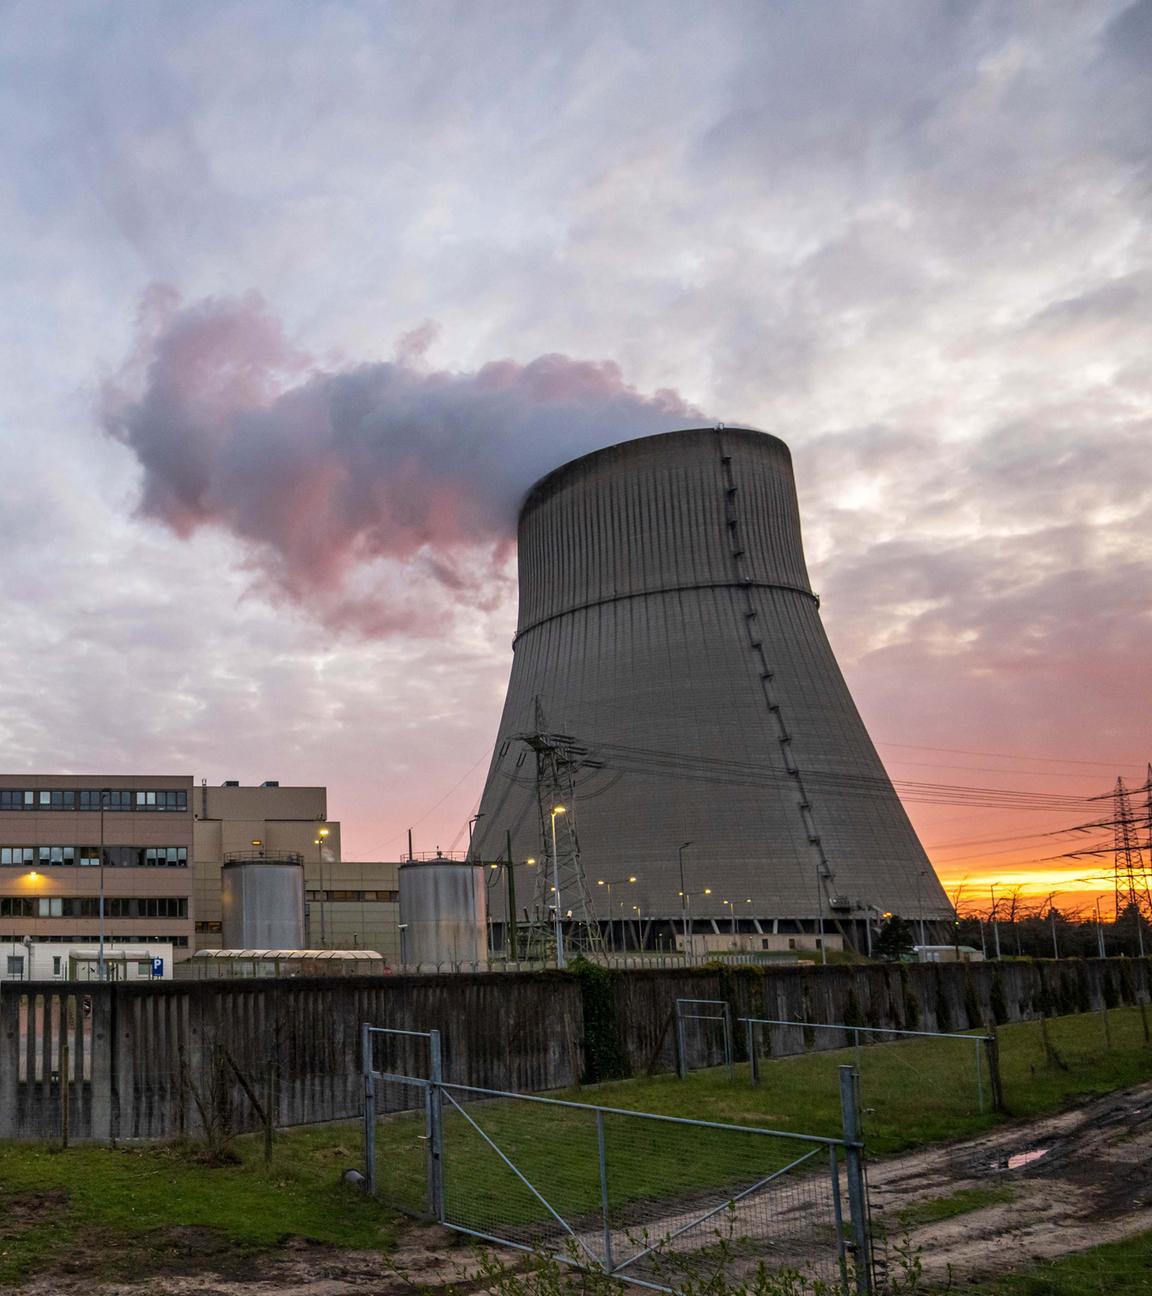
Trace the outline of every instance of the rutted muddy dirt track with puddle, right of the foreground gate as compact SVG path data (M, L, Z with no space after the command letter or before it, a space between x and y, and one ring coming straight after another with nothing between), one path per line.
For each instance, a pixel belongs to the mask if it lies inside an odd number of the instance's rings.
M1042 1151L1043 1155L1029 1157ZM1038 1121L873 1161L873 1221L960 1188L1009 1186L1013 1199L911 1229L925 1274L993 1274L1152 1230L1152 1083Z

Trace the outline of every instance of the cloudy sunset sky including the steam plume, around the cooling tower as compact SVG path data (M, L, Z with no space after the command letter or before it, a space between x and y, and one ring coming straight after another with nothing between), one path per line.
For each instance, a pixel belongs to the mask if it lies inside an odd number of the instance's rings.
M1051 798L1152 758L1149 71L1152 0L8 0L0 765L459 848L520 494L706 417L790 445L950 889L1091 890Z

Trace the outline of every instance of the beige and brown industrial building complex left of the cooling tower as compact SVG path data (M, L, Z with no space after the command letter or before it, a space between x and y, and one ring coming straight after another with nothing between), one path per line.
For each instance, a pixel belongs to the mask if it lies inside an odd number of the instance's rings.
M341 858L325 788L190 775L0 776L0 980L168 977L219 949L399 959L399 863ZM104 867L100 867L101 859ZM260 934L276 940L257 940Z

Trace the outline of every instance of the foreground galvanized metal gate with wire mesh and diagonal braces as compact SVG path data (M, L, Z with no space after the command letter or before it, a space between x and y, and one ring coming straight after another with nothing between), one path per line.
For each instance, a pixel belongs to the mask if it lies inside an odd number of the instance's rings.
M402 1037L424 1042L422 1072L381 1069ZM363 1041L365 1178L390 1207L661 1291L719 1262L872 1291L850 1067L837 1139L446 1083L435 1032ZM407 1111L381 1117L386 1086Z

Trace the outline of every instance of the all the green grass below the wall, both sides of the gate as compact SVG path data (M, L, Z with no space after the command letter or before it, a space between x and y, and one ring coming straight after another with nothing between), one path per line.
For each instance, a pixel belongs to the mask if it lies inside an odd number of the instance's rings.
M1011 1113L1038 1116L1082 1095L1152 1078L1152 1048L1143 1041L1139 1013L1113 1010L1109 1034L1111 1048L1099 1015L1050 1023L1051 1042L1064 1064L1060 1067L1046 1059L1037 1024L1002 1028L1002 1070ZM847 1050L766 1061L759 1086L750 1085L745 1072L736 1082L723 1072L702 1072L687 1081L660 1076L560 1096L835 1137L840 1131L837 1065L851 1060ZM960 1070L955 1055L932 1041L866 1048L860 1061L863 1100L871 1108L866 1116L867 1138L873 1151L972 1133L996 1118L974 1111L971 1070ZM595 1117L533 1103L496 1102L469 1111L565 1210L579 1216L599 1208ZM406 1204L422 1204L422 1133L420 1120L381 1121L382 1201L404 1201L407 1196ZM641 1200L651 1201L652 1212L658 1214L676 1199L746 1182L749 1175L763 1174L803 1151L753 1134L710 1134L627 1116L608 1116L604 1134L612 1204L622 1216ZM478 1225L517 1220L531 1225L539 1220L539 1203L451 1109L446 1142L451 1208L468 1213ZM141 1257L163 1269L166 1257L180 1251L174 1235L181 1230L210 1234L227 1248L229 1262L286 1238L345 1248L386 1247L393 1242L395 1218L340 1183L342 1170L359 1164L356 1124L279 1134L271 1168L263 1165L259 1139L237 1139L236 1150L238 1164L207 1166L197 1160L196 1148L179 1146L84 1146L67 1152L32 1144L0 1146L0 1282L13 1282L34 1269L51 1270L53 1265L115 1277L139 1265ZM947 1199L941 1207L962 1208L964 1203ZM1143 1252L1133 1249L1130 1256L1123 1249L1112 1258L1105 1256L1096 1266L1100 1280L1105 1260L1113 1265L1131 1258L1138 1266L1147 1255L1146 1247ZM187 1264L187 1247L180 1262ZM1082 1262L1089 1265L1087 1260ZM1072 1261L1066 1264L1073 1277L1063 1287L977 1291L986 1296L1064 1296L1073 1291L1096 1296L1121 1290L1143 1296L1147 1291L1147 1284L1135 1284L1136 1279L1126 1288L1094 1287L1091 1267L1081 1270ZM1043 1280L1057 1279L1046 1270Z

